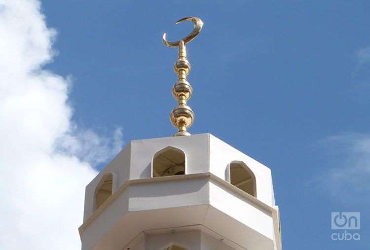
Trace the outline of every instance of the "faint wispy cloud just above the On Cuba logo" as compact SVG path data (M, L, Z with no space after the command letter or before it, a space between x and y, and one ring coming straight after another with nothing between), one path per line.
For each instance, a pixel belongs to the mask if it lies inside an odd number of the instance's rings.
M320 190L341 202L369 202L370 135L347 133L323 143L330 154L330 168L320 174Z

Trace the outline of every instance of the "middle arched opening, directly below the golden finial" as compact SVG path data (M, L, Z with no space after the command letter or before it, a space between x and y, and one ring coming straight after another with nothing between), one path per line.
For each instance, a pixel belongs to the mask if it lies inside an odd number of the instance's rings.
M157 152L152 161L152 177L185 175L185 153L175 147Z

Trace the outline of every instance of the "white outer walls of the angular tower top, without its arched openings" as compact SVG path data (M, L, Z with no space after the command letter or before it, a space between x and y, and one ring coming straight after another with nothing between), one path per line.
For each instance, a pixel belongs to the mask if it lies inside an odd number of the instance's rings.
M152 157L168 146L184 151L185 175L152 178ZM228 182L233 161L255 175L256 198ZM106 173L113 174L113 195L94 211L96 188ZM200 225L231 242L232 249L280 250L274 205L270 169L210 134L136 140L86 187L82 249L122 250L148 230Z

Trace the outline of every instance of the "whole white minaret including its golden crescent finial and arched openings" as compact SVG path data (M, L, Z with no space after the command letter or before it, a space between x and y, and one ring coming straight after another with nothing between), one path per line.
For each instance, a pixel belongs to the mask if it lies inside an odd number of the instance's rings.
M190 35L179 47L173 137L135 140L86 186L82 250L281 250L271 170L210 134L190 135Z

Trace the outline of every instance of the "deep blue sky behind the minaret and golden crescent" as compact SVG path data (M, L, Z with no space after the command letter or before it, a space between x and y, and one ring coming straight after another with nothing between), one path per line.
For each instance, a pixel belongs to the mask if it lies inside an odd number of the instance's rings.
M79 128L123 140L171 136L177 40L188 44L196 114L211 133L270 167L285 250L369 247L369 1L43 1L70 79ZM87 142L90 142L87 140ZM103 143L106 145L107 143ZM109 148L109 147L108 147ZM105 148L107 149L107 148ZM90 162L101 169L112 156ZM362 239L331 240L331 212L361 212Z

